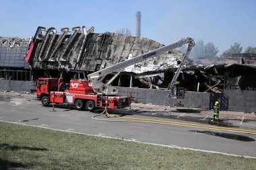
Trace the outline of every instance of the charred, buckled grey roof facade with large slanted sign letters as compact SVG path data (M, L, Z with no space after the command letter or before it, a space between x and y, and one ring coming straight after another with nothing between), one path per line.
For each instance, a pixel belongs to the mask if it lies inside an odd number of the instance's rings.
M32 68L94 72L164 46L148 38L111 32L84 34L84 28L83 32L79 27L72 28L71 34L68 34L68 28L63 28L63 33L58 34L55 28L46 30L38 27L32 40L34 47L30 49L31 56L28 58ZM182 56L182 52L171 50L127 67L125 72L141 74L173 71ZM187 59L185 69L199 69L199 66Z

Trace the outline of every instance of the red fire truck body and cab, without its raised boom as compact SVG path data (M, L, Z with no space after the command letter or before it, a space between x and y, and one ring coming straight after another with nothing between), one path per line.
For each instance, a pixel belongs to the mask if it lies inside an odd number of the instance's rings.
M85 108L89 111L105 107L106 95L95 93L85 79L71 80L69 89L65 89L65 83L61 78L39 78L36 85L37 97L44 106L55 103L75 106L77 110ZM108 108L124 108L129 106L129 101L130 97L108 95Z

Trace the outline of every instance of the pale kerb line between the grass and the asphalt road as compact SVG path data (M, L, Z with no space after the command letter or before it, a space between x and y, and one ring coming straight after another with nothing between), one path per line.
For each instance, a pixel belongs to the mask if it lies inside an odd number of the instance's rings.
M22 123L15 123L15 122L8 122L5 120L0 120L0 122L7 122L7 123L11 123L11 124L22 124ZM180 146L170 146L170 145L165 145L165 144L155 144L155 143L150 143L150 142L139 142L139 141L132 141L129 139L124 139L124 138L115 138L115 137L110 137L110 136L101 136L100 134L96 135L96 134L86 134L86 133L82 133L82 132L70 132L70 131L65 131L65 130L61 130L61 129L55 129L55 128L47 128L47 127L42 127L42 126L34 126L34 125L29 125L29 124L22 124L24 126L31 126L31 127L36 127L36 128L44 128L44 129L50 129L50 130L57 130L59 132L67 132L67 133L74 133L74 134L85 134L88 136L99 136L102 138L114 138L114 139L119 139L119 140L126 140L126 141L130 141L130 142L137 142L137 143L143 143L143 144L152 144L155 146L164 146L164 147L168 147L168 148L179 148L179 149L184 149L184 150L190 150L190 151L201 151L204 153L218 153L218 154L222 154L222 155L228 155L228 156L234 156L234 157L243 157L243 158L253 158L256 159L256 157L250 157L250 156L244 156L244 155L234 155L234 154L230 154L230 153L221 153L218 151L207 151L207 150L202 150L202 149L197 149L197 148L186 148L186 147L180 147Z

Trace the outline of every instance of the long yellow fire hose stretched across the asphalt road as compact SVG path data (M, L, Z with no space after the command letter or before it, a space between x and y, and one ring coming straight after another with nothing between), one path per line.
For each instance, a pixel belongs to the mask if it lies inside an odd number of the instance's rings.
M208 126L203 124L189 124L189 123L183 123L183 122L172 122L167 120L154 120L154 119L143 119L143 118L131 118L131 117L121 117L121 116L113 116L111 114L107 113L107 116L112 118L122 118L122 119L129 119L129 120L141 120L146 122L160 122L160 123L166 123L166 124L178 124L178 125L184 125L184 126L195 126L195 127L201 127L201 128L214 128L214 129L220 129L220 130L232 130L235 132L248 132L256 134L256 130L245 130L245 129L238 129L238 128L225 128L225 127L219 127L219 126Z

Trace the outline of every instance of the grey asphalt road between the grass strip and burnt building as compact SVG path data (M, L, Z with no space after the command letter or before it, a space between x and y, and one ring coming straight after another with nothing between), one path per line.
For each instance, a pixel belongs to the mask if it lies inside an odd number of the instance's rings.
M0 93L0 108L0 121L178 148L256 157L256 134L193 126L131 122L133 120L97 116L100 112L69 108L55 108L57 111L51 112L52 108L42 106L34 95L19 93ZM256 116L221 116L222 122L214 124L211 122L211 114L195 113L193 110L166 110L164 106L155 109L136 106L133 109L135 111L126 117L256 130ZM93 116L96 117L92 118Z

